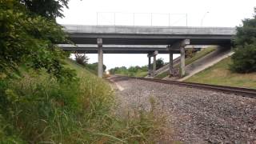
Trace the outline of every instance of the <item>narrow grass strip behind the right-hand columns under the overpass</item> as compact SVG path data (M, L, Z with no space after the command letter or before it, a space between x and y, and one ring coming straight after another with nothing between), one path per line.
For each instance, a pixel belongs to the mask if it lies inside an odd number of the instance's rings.
M195 61L198 60L199 58L202 58L202 57L206 56L206 54L210 54L210 53L213 52L214 50L216 50L216 47L214 47L214 46L211 46L211 47L209 47L209 48L206 48L206 49L204 49L204 50L201 50L201 51L199 51L198 53L196 53L196 54L194 55L194 57L192 57L192 58L186 58L185 64L186 64L186 65L189 65L190 63L195 62ZM175 67L178 67L178 65L175 66ZM168 71L165 71L165 72L163 72L162 74L158 74L155 78L166 78L167 76L168 76Z

